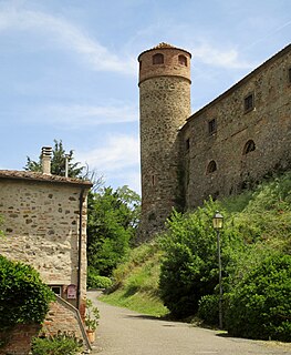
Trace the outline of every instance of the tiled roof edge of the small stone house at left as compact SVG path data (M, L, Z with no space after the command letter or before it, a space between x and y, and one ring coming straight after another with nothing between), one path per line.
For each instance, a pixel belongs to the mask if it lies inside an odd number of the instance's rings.
M14 179L14 180L30 180L30 181L42 181L49 183L64 183L83 185L90 189L92 183L87 180L64 178L59 175L48 175L37 173L32 171L18 171L18 170L0 170L0 179Z

